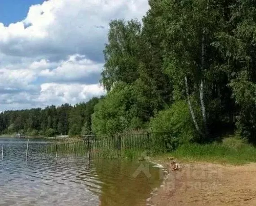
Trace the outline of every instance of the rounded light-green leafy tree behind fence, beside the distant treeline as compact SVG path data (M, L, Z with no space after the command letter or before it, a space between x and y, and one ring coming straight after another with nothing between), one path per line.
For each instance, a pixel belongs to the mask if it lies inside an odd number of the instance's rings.
M140 115L140 109L145 106L144 100L140 88L135 84L116 83L106 98L95 106L92 116L93 132L115 134L128 128L141 128L143 114Z

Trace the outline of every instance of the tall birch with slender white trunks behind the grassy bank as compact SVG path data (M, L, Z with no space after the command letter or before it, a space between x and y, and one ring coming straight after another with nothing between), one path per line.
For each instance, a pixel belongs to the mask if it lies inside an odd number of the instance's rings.
M205 128L195 127L207 134L205 92L211 80L207 81L212 58L211 43L214 33L221 28L222 15L215 1L162 0L152 1L151 9L156 8L162 15L156 20L159 33L165 38L163 46L163 67L173 83L174 100L184 99L186 95L198 94ZM184 81L184 79L186 79ZM189 91L189 92L185 92ZM187 97L188 98L188 97ZM189 98L188 98L189 100ZM191 105L188 101L188 104ZM193 117L193 108L190 106Z

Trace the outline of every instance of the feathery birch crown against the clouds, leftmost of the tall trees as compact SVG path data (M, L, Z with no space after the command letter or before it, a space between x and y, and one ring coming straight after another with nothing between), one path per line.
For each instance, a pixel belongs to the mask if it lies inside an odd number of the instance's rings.
M124 20L110 22L108 41L104 50L105 65L101 83L107 91L115 82L132 83L137 77L138 69L138 37L141 24L137 20L127 23Z

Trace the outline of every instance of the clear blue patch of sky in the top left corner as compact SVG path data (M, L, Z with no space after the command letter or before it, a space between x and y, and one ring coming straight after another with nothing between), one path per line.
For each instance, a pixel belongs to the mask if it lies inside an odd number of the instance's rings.
M29 7L33 4L42 4L44 0L0 0L0 22L4 26L26 18Z

